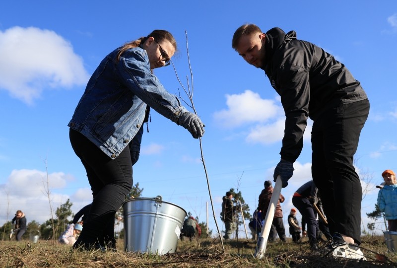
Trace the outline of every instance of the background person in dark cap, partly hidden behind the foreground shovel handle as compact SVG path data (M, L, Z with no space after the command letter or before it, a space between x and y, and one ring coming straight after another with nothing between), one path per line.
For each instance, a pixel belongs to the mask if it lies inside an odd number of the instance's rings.
M258 210L261 211L266 211L262 213L262 220L265 219L266 213L267 213L267 208L270 204L270 199L273 194L273 186L271 185L270 181L265 181L264 183L265 189L262 190L261 194L259 195L259 200L258 200ZM285 237L285 228L284 228L284 222L282 219L282 209L281 209L281 203L284 202L285 198L283 195L280 194L277 200L277 205L274 211L274 217L273 221L271 224L270 232L269 232L269 237L267 238L267 241L274 241L276 239L276 233L278 234L278 237L282 242L286 242L286 237Z

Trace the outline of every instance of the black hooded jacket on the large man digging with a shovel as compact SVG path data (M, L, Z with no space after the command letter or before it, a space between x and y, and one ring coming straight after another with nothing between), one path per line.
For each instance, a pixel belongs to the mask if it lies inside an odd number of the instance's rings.
M322 48L272 28L265 37L265 73L281 96L285 133L281 158L295 162L303 147L306 121L330 108L367 99L360 82Z

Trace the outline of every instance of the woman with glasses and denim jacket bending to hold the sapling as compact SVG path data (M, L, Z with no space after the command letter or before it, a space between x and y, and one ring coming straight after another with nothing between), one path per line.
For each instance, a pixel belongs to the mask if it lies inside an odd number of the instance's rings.
M68 127L74 152L84 165L93 201L73 248L116 249L114 215L132 189L131 141L141 135L146 107L204 134L199 117L165 90L153 69L170 65L174 37L154 30L107 55L88 81ZM140 140L140 136L135 139Z

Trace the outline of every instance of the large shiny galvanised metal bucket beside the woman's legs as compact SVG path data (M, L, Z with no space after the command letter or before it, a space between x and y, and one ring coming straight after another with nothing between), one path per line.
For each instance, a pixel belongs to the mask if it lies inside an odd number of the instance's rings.
M178 244L185 209L156 198L125 201L124 250L163 255L174 253Z

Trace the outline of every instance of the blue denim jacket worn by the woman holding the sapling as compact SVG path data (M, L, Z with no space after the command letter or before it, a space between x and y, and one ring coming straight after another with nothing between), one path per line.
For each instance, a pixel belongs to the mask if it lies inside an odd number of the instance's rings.
M145 117L146 104L177 123L187 112L177 96L151 73L145 50L111 52L92 74L67 125L86 136L112 159L130 143Z

